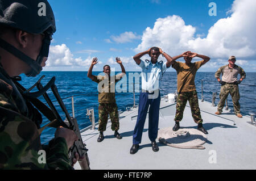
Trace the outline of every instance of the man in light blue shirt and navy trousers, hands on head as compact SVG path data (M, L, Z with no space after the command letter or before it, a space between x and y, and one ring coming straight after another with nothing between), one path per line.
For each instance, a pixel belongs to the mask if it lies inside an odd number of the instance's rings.
M149 54L151 61L141 60L141 57L145 54ZM158 62L160 54L166 58L167 62ZM133 57L133 59L136 64L142 68L142 92L139 95L138 117L133 131L133 146L131 146L130 154L135 154L138 151L149 105L148 137L151 141L152 150L158 151L159 148L155 139L158 136L158 120L161 99L159 79L162 78L164 71L166 71L167 68L170 68L173 59L158 47L152 47L147 51L138 53Z

